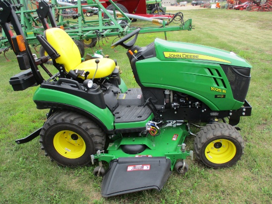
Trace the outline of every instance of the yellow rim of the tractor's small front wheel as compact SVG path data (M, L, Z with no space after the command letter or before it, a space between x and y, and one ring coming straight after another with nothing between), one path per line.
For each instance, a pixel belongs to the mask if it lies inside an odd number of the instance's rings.
M225 139L214 140L205 149L206 158L213 163L226 163L236 154L235 145Z

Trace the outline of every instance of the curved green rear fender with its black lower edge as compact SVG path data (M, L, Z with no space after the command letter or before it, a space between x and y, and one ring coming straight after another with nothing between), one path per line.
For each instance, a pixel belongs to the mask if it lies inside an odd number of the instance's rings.
M106 133L113 133L114 116L107 107L100 108L78 96L41 87L36 90L33 101L38 109L61 108L80 112L93 119Z

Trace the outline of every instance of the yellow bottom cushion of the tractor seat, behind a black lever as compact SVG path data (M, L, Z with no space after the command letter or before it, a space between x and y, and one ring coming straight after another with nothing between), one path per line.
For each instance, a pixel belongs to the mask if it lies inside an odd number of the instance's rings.
M107 77L111 75L113 70L115 69L115 62L112 59L109 58L100 58L99 63L98 63L98 69L95 74L95 79L96 78L102 78L102 77ZM95 59L90 59L87 61L82 62L78 66L74 68L74 70L84 70L85 72L89 71L90 74L88 75L87 79L92 79L95 70L96 70L96 63ZM83 76L79 75L78 77L84 79Z

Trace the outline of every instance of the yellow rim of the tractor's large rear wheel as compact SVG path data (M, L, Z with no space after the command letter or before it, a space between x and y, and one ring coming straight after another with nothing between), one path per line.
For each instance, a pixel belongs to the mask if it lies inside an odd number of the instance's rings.
M56 151L66 158L78 158L85 153L86 145L80 135L73 131L60 131L54 139Z

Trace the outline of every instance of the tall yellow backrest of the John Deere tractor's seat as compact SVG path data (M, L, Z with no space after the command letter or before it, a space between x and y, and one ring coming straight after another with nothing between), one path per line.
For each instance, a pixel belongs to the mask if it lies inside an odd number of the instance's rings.
M72 38L60 28L49 28L44 32L45 39L60 54L56 62L63 64L65 70L74 70L81 63L80 51Z

